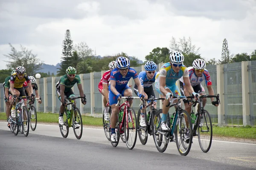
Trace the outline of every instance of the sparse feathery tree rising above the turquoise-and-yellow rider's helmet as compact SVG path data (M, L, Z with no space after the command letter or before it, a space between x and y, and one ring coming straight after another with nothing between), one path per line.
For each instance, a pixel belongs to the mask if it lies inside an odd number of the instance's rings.
M186 40L185 37L182 39L179 39L179 42L176 41L174 37L172 37L172 40L170 42L170 48L172 51L179 51L183 55L188 55L190 53L198 54L198 51L200 48L196 48L195 45L192 45L191 38L189 37L188 40Z

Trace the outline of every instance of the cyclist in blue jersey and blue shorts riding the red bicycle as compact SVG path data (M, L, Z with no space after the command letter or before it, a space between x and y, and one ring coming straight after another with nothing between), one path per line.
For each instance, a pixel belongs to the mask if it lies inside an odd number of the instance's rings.
M143 98L143 89L140 84L137 72L130 68L130 60L126 57L118 57L116 59L117 67L111 71L109 90L109 104L111 105L111 141L117 142L116 138L116 121L119 107L116 106L117 101L121 100L122 96L132 96L132 90L127 85L131 77L134 79L135 84L138 86L139 96ZM130 104L132 103L132 100Z

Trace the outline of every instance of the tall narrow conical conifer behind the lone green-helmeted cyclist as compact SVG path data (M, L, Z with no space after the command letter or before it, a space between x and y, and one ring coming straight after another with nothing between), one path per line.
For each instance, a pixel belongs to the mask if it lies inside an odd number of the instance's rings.
M65 33L65 39L62 42L62 57L61 57L61 65L58 68L57 75L61 76L66 74L66 69L70 66L72 62L72 48L73 48L73 40L71 40L70 30L67 29Z

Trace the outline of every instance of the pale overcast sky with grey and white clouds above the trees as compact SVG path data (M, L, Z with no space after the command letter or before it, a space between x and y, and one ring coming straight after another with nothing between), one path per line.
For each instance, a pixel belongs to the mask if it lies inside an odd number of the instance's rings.
M220 59L224 38L232 54L256 49L256 0L0 0L0 69L8 43L56 65L67 29L101 56L123 51L144 61L185 36L202 57Z

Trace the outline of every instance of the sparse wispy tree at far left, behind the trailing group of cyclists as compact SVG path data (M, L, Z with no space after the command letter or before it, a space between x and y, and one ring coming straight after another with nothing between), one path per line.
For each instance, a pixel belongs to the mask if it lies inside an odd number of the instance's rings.
M8 69L15 69L17 66L23 66L26 68L26 73L28 75L34 74L36 71L42 69L41 65L43 64L40 59L38 59L36 54L32 54L32 50L20 45L21 51L17 51L15 47L9 43L11 47L11 52L7 55L4 55L9 59L7 62Z

